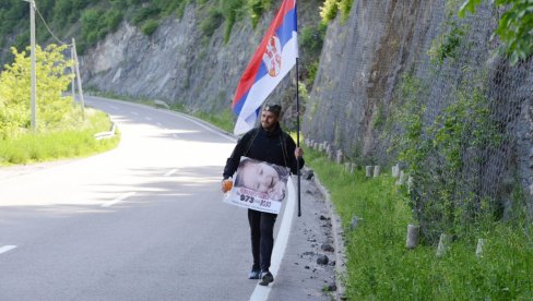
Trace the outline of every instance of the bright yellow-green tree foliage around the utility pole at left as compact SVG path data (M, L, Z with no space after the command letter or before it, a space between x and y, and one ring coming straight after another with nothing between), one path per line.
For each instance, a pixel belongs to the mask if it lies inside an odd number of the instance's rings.
M72 67L62 52L67 46L49 45L46 49L36 46L36 108L39 131L76 123L72 97L64 97L71 75L66 70ZM28 51L28 49L26 50ZM12 48L14 62L5 65L0 74L0 140L16 136L29 130L29 53Z

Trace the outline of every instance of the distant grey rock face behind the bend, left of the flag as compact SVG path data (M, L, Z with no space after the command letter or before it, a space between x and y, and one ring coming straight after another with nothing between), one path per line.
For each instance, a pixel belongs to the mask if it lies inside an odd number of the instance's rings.
M319 2L300 5L300 27L318 23ZM274 11L265 13L256 28L249 20L237 22L227 44L224 24L211 38L203 36L199 23L205 16L192 4L181 19L164 21L151 36L122 23L81 58L84 85L118 95L162 99L192 110L227 109L273 15ZM279 98L292 84L289 77L273 97Z

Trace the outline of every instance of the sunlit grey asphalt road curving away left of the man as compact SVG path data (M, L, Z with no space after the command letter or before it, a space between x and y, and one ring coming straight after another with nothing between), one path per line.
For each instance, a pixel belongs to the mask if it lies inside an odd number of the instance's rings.
M246 210L220 191L235 141L165 110L86 103L117 122L116 149L0 169L0 300L249 300Z

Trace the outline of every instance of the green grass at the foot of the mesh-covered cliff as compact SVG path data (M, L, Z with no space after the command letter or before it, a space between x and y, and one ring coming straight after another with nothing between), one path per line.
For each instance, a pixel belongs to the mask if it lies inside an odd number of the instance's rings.
M345 229L348 300L532 300L531 222L491 221L482 257L476 242L454 241L446 256L434 245L405 248L411 208L390 173L366 179L347 174L317 152L306 161L331 193ZM353 216L363 218L350 229ZM488 226L488 227L487 227ZM530 232L531 234L531 232Z

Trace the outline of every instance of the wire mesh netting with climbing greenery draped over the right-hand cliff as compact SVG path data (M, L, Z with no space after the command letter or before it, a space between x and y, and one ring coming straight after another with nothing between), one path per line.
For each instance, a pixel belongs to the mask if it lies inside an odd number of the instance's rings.
M304 118L306 137L359 166L400 158L429 242L533 212L533 60L498 53L500 11L458 19L459 2L357 1L329 28Z

